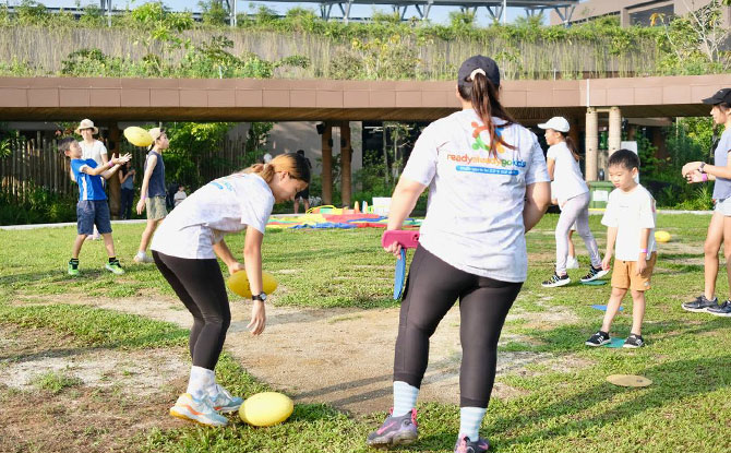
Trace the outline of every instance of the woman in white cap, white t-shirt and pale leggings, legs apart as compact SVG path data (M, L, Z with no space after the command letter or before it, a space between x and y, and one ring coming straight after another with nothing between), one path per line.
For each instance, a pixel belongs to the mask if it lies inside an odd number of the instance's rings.
M589 273L582 277L582 282L591 282L607 275L608 271L601 269L599 248L589 229L589 188L578 166L579 156L576 146L566 135L570 130L568 121L563 117L553 117L538 127L546 130L546 143L550 146L546 160L553 180L551 196L556 199L561 207L561 216L555 226L555 271L542 285L552 288L571 283L566 273L566 259L568 231L574 224L578 235L584 239L591 260Z

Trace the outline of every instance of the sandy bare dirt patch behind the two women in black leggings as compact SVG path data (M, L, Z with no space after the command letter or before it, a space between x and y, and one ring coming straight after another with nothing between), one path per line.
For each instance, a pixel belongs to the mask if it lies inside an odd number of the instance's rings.
M173 299L85 298L76 303L141 314L184 327L192 324L191 315L181 310L182 303ZM252 375L288 393L296 402L329 403L356 415L391 407L398 309L325 310L269 305L266 331L257 337L245 329L250 319L248 302L232 300L231 315L226 349ZM511 319L527 319L530 325L540 329L576 318L565 307L547 306L536 312L516 310ZM531 341L506 327L501 344L506 343L531 344ZM459 310L455 306L431 338L430 363L420 401L458 404L460 359ZM556 360L564 359L541 353L499 351L498 380L508 373L525 374L526 367L536 363L550 369L573 368L568 361L553 366ZM499 383L493 396L510 398L522 393Z

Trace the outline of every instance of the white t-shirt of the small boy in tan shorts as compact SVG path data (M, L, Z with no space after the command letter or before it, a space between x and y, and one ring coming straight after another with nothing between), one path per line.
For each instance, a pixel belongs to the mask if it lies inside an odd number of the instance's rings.
M614 258L622 261L637 261L639 257L639 235L644 228L650 229L647 241L647 258L657 251L655 242L655 199L640 184L630 192L614 189L609 194L607 211L601 218L602 225L615 227L616 243Z

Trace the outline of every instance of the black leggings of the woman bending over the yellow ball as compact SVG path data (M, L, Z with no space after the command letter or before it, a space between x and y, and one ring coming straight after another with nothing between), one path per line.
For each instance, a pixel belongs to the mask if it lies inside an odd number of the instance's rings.
M218 260L170 257L153 250L157 269L193 314L190 355L193 366L213 370L224 348L231 310Z

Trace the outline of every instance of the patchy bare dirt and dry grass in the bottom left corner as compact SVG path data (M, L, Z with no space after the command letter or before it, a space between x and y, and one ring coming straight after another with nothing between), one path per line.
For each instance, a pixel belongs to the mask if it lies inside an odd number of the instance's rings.
M131 439L183 424L166 416L187 380L180 353L88 349L7 324L0 347L2 452L134 452ZM44 374L74 379L44 390Z

